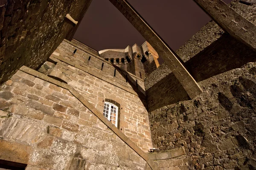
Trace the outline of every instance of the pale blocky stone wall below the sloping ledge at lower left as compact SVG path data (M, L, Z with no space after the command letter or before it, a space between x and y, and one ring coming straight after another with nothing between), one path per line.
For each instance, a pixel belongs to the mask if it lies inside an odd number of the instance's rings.
M0 87L0 159L26 170L146 169L67 89L18 71Z

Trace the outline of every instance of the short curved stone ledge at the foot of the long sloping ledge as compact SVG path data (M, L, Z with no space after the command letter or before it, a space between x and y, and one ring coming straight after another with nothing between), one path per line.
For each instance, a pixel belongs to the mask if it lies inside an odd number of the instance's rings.
M168 152L163 153L148 153L148 157L152 160L163 160L163 159L171 159L178 156L185 155L184 148L178 149L178 150L171 150Z

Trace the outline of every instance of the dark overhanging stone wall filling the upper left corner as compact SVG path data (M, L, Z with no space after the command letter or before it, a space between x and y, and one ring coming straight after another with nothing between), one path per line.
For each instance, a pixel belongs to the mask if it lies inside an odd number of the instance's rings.
M23 65L38 68L65 37L73 37L77 27L65 16L80 22L90 2L1 0L0 84Z

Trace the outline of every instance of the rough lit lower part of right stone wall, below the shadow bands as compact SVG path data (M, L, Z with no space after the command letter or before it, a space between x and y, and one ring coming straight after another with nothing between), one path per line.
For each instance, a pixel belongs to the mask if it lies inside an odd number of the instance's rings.
M256 169L256 64L202 82L197 98L149 113L160 150L184 147L189 169Z

